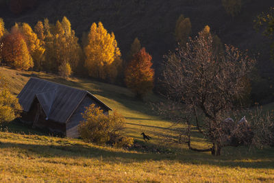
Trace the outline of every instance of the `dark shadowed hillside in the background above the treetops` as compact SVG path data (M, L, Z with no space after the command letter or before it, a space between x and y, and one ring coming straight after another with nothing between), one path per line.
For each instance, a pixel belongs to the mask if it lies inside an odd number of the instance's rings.
M209 25L223 43L249 49L254 55L260 53L260 73L273 75L274 69L269 59L270 42L253 29L256 16L273 5L273 0L243 0L240 14L232 17L226 14L221 0L48 0L38 1L34 8L17 15L1 3L0 17L5 21L5 27L9 28L15 22L35 25L37 21L48 18L55 23L67 16L79 38L83 32L88 32L93 22L101 21L109 32L114 32L123 58L134 38L138 37L142 46L151 53L157 71L162 56L176 45L175 23L179 15L184 14L190 18L192 36Z

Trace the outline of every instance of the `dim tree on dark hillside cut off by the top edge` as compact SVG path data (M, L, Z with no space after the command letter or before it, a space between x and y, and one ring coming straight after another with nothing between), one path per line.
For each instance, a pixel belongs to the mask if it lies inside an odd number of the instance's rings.
M242 0L222 0L222 4L227 14L231 16L239 14L242 8Z

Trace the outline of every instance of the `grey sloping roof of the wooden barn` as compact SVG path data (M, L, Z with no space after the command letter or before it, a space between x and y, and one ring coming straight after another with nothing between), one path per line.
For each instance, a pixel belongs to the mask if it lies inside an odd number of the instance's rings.
M29 79L17 97L25 112L30 110L34 99L37 98L48 119L66 123L86 95L101 106L112 110L87 90L80 90L36 77Z

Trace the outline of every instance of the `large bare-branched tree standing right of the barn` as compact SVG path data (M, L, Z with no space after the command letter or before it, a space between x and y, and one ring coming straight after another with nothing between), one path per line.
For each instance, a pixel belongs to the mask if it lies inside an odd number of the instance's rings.
M171 105L165 103L160 112L173 120L188 123L186 143L189 149L211 151L219 156L222 147L232 145L232 136L236 136L240 129L249 130L246 121L245 125L240 125L227 117L236 109L235 99L245 93L243 78L251 72L254 64L255 60L247 53L233 46L225 45L225 51L220 55L214 48L212 35L203 32L194 39L190 38L186 47L166 56L161 82ZM190 126L193 120L212 147L191 147Z

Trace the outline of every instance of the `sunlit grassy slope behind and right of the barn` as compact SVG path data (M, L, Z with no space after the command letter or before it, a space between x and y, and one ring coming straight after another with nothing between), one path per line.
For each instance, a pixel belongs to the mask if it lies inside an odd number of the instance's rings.
M146 102L144 103L142 101L136 101L134 95L127 90L127 88L95 82L88 79L71 78L69 80L64 80L58 75L42 72L16 71L5 67L0 67L0 74L5 77L5 82L8 83L8 87L14 95L20 93L30 77L39 77L52 82L88 90L110 106L110 108L117 110L125 116L127 122L125 132L128 136L141 140L142 136L140 133L145 132L152 136L160 137L158 138L159 141L165 140L163 138L166 135L176 138L176 132L174 131L175 127L170 127L173 124L169 121L160 119L160 117L157 117L157 115L153 114L153 111L151 111L150 103L162 100L156 95L150 94L147 96L145 99Z

